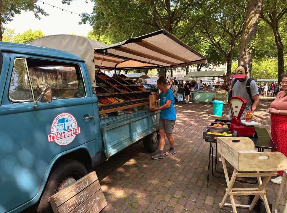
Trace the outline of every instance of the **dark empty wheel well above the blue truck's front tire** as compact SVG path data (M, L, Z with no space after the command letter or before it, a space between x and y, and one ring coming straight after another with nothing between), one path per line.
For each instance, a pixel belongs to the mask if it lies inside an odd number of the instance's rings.
M85 149L78 149L78 150L75 150L75 151L70 152L68 154L65 154L64 156L61 156L59 159L57 159L57 161L54 163L54 165L56 165L57 162L60 162L64 159L77 160L77 161L81 162L82 164L84 164L88 171L90 170L91 165L92 165L90 154Z

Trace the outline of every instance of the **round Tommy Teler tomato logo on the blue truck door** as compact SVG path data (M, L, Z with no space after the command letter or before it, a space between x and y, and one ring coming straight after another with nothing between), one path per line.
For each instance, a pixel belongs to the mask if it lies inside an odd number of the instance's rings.
M71 143L76 135L80 134L77 120L70 113L61 113L55 117L51 125L51 134L48 135L48 141L66 146Z

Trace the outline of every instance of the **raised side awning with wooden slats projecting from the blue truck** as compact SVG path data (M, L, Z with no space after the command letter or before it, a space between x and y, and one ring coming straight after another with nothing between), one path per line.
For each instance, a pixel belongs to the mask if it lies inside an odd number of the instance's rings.
M95 49L95 67L106 69L150 69L182 67L207 62L196 52L166 30Z

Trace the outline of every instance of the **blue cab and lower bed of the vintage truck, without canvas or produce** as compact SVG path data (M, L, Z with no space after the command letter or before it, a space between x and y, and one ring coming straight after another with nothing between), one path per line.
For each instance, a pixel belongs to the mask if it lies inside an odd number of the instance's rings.
M0 49L1 213L33 204L45 212L49 196L130 144L157 149L159 112L99 120L82 59L27 44Z

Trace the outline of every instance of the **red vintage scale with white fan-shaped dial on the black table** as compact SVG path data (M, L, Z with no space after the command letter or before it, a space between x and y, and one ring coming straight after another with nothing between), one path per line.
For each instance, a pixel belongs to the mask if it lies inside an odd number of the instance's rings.
M236 130L238 136L249 136L255 133L254 126L241 124L241 115L245 109L247 101L241 97L232 97L229 99L230 111L232 115L229 131Z

